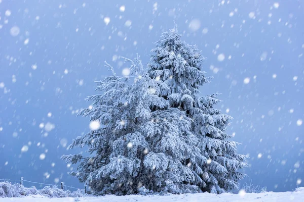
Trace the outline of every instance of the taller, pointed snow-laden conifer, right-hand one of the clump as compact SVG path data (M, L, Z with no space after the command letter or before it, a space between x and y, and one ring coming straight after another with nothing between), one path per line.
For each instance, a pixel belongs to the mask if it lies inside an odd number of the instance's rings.
M155 55L148 64L149 75L166 82L169 90L161 96L170 101L170 107L184 111L193 121L191 133L197 138L196 146L203 161L200 156L182 158L195 178L192 184L211 193L238 189L238 181L246 175L237 170L247 166L244 163L247 157L237 154L237 142L228 140L232 136L225 130L232 117L214 109L214 105L221 102L218 94L196 95L211 77L205 77L201 71L205 58L195 46L181 41L181 36L176 26L163 33L152 50Z

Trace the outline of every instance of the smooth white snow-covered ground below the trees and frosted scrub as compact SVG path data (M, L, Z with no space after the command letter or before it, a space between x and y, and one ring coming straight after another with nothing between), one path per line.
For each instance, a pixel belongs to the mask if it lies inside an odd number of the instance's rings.
M199 202L199 201L208 201L208 202L223 202L223 201L240 201L240 202L248 202L248 201L263 201L263 202L289 202L296 201L302 202L304 201L304 187L297 188L292 192L263 192L263 193L245 193L245 195L241 194L232 194L232 193L222 193L222 194L211 194L211 193L196 193L196 194L180 194L180 195L126 195L126 196L99 196L99 197L86 197L79 198L79 200L75 200L75 198L45 198L41 196L26 196L19 198L0 198L1 202L73 202L73 201L87 201L87 202L99 202L99 201L110 201L110 202L123 202L123 201L166 201L166 202L181 202L181 201L189 201L189 202Z

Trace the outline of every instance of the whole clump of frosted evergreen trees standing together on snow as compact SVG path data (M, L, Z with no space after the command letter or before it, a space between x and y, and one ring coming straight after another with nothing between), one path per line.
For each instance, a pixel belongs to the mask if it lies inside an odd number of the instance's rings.
M144 68L139 57L131 75L98 81L100 94L89 96L91 131L73 139L69 149L87 153L63 156L78 164L78 177L98 194L221 193L238 189L246 175L246 156L226 134L231 116L214 106L217 94L199 96L210 82L201 71L204 57L181 40L175 27L163 33Z

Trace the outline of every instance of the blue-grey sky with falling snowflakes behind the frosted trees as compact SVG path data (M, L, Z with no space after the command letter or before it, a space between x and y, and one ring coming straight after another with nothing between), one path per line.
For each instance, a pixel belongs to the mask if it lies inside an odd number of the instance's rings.
M89 130L75 115L110 74L104 61L120 75L122 56L147 63L175 21L208 58L201 93L222 93L228 132L250 155L241 183L303 186L303 19L297 0L0 0L0 179L82 187L59 158L80 152L66 144Z

